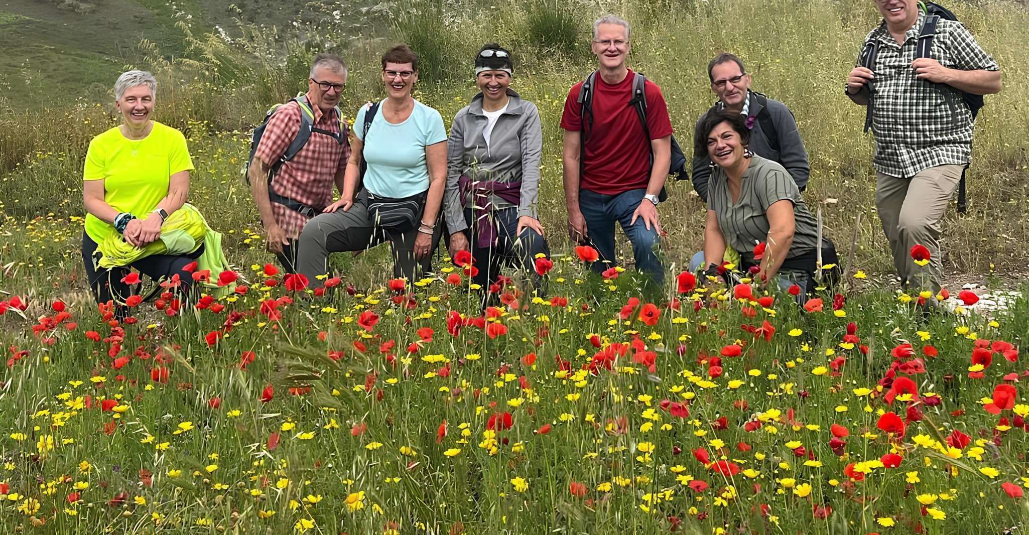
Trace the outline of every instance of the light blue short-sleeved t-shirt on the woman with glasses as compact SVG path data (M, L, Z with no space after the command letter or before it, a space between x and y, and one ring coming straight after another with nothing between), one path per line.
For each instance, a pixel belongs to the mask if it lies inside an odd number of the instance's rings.
M383 102L386 102L385 100ZM379 112L364 130L364 114L369 106L361 107L354 119L354 135L364 142L361 149L367 171L364 187L379 197L400 199L429 188L429 167L425 147L447 141L447 130L439 112L415 101L411 115L393 124Z

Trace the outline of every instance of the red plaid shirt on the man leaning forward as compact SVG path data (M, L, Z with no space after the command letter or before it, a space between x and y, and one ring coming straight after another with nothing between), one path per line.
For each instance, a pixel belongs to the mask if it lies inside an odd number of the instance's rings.
M318 106L311 110L315 114L314 127L328 132L343 132L348 135L347 126L335 111L322 113ZM300 131L300 107L295 102L280 106L268 119L264 135L260 138L255 155L265 166L279 160L289 143ZM334 139L318 133L311 133L311 138L304 148L279 168L272 189L280 195L287 197L321 211L332 203L332 185L335 173L347 167L350 158L350 141L340 145ZM297 239L308 218L295 210L272 203L272 212L279 226L290 239Z

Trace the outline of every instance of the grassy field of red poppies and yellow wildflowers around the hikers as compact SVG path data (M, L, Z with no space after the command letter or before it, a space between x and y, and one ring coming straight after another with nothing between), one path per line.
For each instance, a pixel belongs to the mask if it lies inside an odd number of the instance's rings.
M237 266L197 276L235 284L226 295L196 307L158 295L120 322L98 308L82 282L80 179L110 110L79 101L0 118L0 533L1029 530L1029 300L923 317L919 300L946 295L873 282L889 262L870 143L839 83L874 23L868 2L540 1L538 16L514 6L489 21L470 1L438 4L412 11L440 17L434 33L417 20L394 26L438 46L439 62L493 32L516 41L526 65L516 88L544 117L540 211L552 229L564 216L557 117L590 60L561 33L581 35L575 22L589 16L548 23L547 6L644 21L630 63L665 87L684 146L710 104L710 55L755 59L755 88L787 101L808 141L809 204L841 252L857 236L845 281L802 305L746 279L679 275L703 210L678 184L662 212L664 292L642 294L632 270L592 275L589 251L555 236L554 256L537 262L545 293L516 278L486 311L476 292L491 289L441 254L419 281L389 280L383 251L338 255L331 294L313 295L267 264L241 157L248 126L295 91L311 50L345 40L314 23L296 26L303 40L252 27L237 42L190 36L189 61L151 58L156 113L188 135L190 201L225 233ZM1024 264L1029 239L1019 141L1029 94L1018 83L1029 14L994 1L955 9L1007 85L977 127L983 179L969 182L969 214L949 220L947 265L996 262L1001 277ZM654 24L664 12L680 24ZM725 20L751 23L741 37ZM548 52L522 41L547 32L561 34ZM346 42L344 107L356 109L378 91L382 42ZM416 97L449 119L471 92L441 77Z

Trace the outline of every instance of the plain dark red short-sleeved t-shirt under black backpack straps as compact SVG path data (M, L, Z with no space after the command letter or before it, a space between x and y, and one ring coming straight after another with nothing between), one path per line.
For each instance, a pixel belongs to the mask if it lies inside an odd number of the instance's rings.
M572 85L568 92L561 128L583 132L586 127L582 134L586 150L579 177L581 189L618 194L646 187L650 181L650 140L671 136L672 121L661 87L647 80L643 86L650 131L647 139L639 115L630 103L634 78L635 73L629 70L624 80L612 85L597 75L591 104L592 127L583 124L582 105L578 103L583 82Z

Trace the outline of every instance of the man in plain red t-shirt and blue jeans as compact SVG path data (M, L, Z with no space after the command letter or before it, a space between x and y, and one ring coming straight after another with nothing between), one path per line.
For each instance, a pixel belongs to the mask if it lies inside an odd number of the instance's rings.
M617 221L633 244L636 269L660 285L664 270L657 255L661 236L658 195L665 186L671 162L672 122L661 87L647 80L647 139L630 103L635 73L626 67L629 34L629 23L614 15L601 17L593 25L593 53L599 69L593 88L592 120L588 114L583 121L578 102L582 82L573 85L565 100L561 128L565 130L568 234L572 241L597 249L602 261L594 262L594 269L601 272L615 261Z

